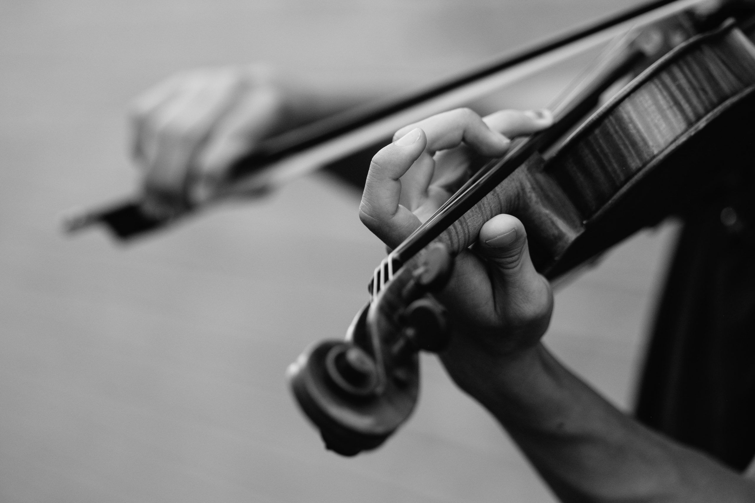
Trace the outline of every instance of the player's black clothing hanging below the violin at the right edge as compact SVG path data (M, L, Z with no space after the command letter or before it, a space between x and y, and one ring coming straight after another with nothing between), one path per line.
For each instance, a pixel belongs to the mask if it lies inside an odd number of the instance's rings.
M744 174L729 186L686 215L636 416L741 471L755 455L755 192Z

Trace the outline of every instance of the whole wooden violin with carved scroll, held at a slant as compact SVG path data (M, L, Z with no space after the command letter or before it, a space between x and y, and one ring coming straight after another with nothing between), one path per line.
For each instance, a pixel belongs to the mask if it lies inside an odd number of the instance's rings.
M597 106L625 75L633 78ZM433 292L488 219L519 218L535 268L558 281L751 169L753 107L755 45L735 20L683 12L627 39L556 107L552 127L480 167L375 268L345 339L291 364L291 390L325 446L375 449L411 415L418 352L448 340Z

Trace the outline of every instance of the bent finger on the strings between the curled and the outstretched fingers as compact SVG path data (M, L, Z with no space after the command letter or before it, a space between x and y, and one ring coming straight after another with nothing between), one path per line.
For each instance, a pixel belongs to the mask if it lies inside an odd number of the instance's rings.
M487 157L504 155L509 147L508 138L492 130L479 115L470 109L455 109L402 127L393 136L399 138L415 127L427 135L427 151L452 149L462 142Z

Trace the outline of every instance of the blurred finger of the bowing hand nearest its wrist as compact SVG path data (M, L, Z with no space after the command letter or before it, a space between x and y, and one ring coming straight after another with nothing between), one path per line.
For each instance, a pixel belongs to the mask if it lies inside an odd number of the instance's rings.
M263 87L242 96L212 128L196 156L201 197L210 197L227 179L234 161L252 152L281 121L282 97L273 87Z

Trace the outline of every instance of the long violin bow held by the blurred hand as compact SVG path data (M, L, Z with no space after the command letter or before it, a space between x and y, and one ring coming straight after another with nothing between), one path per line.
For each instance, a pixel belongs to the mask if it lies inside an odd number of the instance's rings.
M165 228L205 207L238 195L262 194L298 176L328 167L366 176L354 167L369 164L372 156L391 141L400 127L430 115L463 106L493 90L519 81L569 57L582 54L626 32L631 26L652 23L700 3L700 0L655 0L583 29L565 33L532 48L445 81L374 106L351 110L265 140L231 168L230 179L210 201L197 204L193 195L171 213L156 213L137 195L105 207L75 213L65 219L66 232L104 225L116 238L129 239Z

